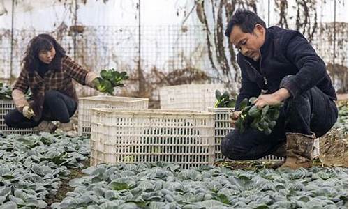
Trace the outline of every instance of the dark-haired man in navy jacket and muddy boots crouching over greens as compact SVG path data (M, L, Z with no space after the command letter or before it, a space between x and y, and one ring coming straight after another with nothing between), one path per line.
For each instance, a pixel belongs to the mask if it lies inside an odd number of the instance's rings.
M239 49L237 63L242 75L232 125L244 98L257 97L254 104L259 108L284 105L272 134L235 129L222 140L222 154L232 160L274 154L286 157L281 167L312 167L314 139L329 131L338 116L325 63L301 33L277 26L267 29L248 10L232 15L225 36Z

